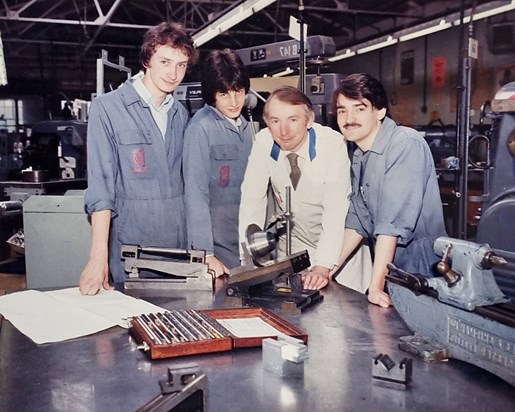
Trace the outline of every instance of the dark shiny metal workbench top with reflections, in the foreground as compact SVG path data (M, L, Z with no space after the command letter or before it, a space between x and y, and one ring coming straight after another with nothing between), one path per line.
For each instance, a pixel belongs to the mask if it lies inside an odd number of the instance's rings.
M148 294L149 292L141 292ZM223 306L223 290L146 296L168 309ZM335 283L322 303L301 315L281 314L309 335L303 379L262 367L261 348L149 360L120 327L67 342L36 345L4 320L0 329L0 411L134 411L160 393L167 368L195 362L208 378L208 411L513 411L515 388L457 360L413 359L406 389L372 379L373 358L395 362L409 334L395 309Z

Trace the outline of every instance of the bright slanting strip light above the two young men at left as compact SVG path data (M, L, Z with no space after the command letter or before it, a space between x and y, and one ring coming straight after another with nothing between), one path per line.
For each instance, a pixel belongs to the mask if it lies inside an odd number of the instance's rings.
M202 46L209 40L214 39L220 33L223 33L229 30L231 27L236 26L238 23L248 19L254 13L257 13L275 1L276 0L248 0L243 4L233 8L226 14L217 18L209 26L194 34L193 40L195 41L195 45L197 47Z

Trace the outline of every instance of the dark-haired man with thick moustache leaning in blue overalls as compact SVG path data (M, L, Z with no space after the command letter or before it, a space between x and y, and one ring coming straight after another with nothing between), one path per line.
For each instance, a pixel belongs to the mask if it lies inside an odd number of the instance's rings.
M346 77L334 93L333 107L345 139L357 146L340 263L368 239L375 252L368 300L388 307L388 263L436 275L433 241L445 236L445 227L433 157L420 133L387 117L386 92L372 76ZM306 286L322 288L328 282L311 276Z

